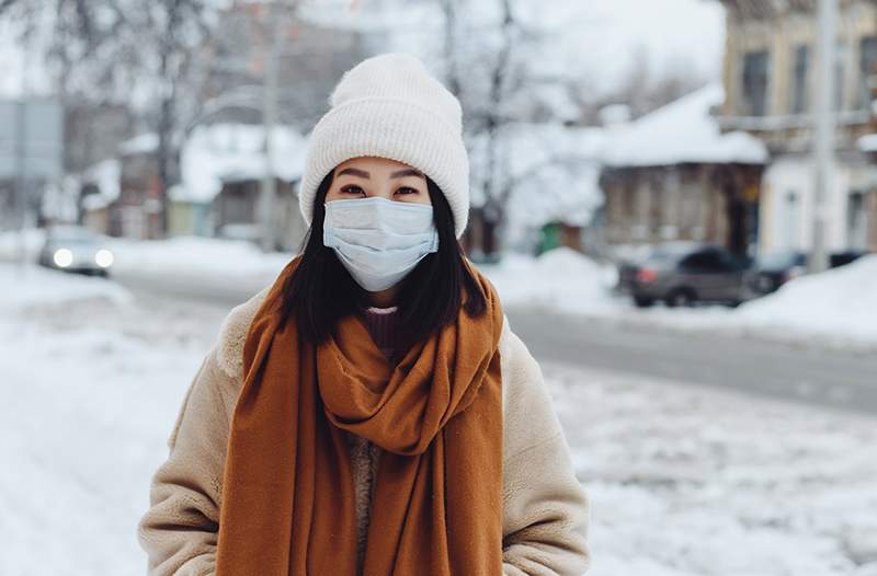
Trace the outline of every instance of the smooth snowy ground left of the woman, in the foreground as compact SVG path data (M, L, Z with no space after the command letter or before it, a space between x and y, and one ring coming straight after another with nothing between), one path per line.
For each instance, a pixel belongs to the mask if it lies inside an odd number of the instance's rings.
M210 314L0 264L0 574L145 574L134 522Z

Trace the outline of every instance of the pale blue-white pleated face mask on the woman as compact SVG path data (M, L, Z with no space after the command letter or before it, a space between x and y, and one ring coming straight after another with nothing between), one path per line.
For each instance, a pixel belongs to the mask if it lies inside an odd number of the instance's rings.
M379 196L326 203L322 242L369 292L401 280L438 251L432 206Z

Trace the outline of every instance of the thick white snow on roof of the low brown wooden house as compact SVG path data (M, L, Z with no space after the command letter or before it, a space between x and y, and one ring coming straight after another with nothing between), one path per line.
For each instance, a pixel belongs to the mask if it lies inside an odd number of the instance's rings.
M714 82L617 126L604 151L604 162L611 166L765 163L768 157L764 142L742 131L720 133L709 108L724 100L724 88Z

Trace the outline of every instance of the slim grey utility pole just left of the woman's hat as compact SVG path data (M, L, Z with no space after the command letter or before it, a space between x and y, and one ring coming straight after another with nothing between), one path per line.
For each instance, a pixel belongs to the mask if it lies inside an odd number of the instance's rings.
M281 38L284 31L285 18L283 10L275 8L275 0L265 5L265 30L267 31L267 49L265 51L263 94L262 94L262 127L264 130L264 159L265 172L262 175L260 187L260 205L262 220L262 251L274 250L274 199L277 192L277 182L274 174L274 127L277 125L277 76L280 68Z

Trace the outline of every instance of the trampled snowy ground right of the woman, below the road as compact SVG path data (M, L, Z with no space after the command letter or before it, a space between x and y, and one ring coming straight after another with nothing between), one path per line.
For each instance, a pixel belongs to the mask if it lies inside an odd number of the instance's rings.
M877 575L875 422L544 366L594 576Z

